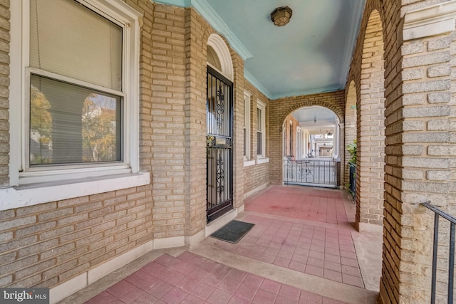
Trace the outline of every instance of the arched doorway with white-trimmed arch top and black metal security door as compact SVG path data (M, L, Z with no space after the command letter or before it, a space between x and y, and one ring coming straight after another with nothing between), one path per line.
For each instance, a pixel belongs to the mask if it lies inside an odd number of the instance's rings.
M207 41L207 222L233 209L233 65L217 34Z

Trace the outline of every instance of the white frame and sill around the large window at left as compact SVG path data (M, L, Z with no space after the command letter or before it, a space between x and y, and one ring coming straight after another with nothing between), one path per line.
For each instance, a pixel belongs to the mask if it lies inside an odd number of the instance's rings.
M140 172L139 161L139 53L140 17L142 15L121 0L76 1L123 28L123 162L115 164L63 165L47 167L46 169L26 168L29 145L28 115L26 111L29 107L30 72L31 70L36 72L36 69L30 68L28 64L30 1L11 1L9 185L10 187L17 187L16 190L18 192L25 188L30 192L29 189L40 188L42 190L43 187L71 185L76 182L93 181L97 183L98 187L92 187L92 184L88 184L87 187L91 190L81 192L81 195L87 195L110 191L110 189L125 189L135 185L148 184L150 180L148 173ZM48 72L43 71L38 73L38 75L47 74ZM56 78L56 80L70 80L55 74L52 74L52 77ZM95 88L95 85L88 85L78 80L72 80L71 83ZM132 179L132 177L137 178ZM110 179L110 182L113 182L112 179L118 178L128 178L130 182L125 183L125 187L122 182L114 182L111 185L104 183L103 186L100 186L100 181L103 181L103 179ZM61 188L61 192L65 191L66 188ZM13 192L13 190L9 189L9 194ZM4 206L6 206L4 203L8 199L6 192L3 194L5 195L3 196L4 199L0 199L0 209L4 209ZM11 196L10 199L13 199L15 195L17 194ZM30 195L33 195L33 193ZM31 201L24 204L33 204L33 201L35 204L39 204L40 202L50 201L50 199L56 199L56 197L58 199L64 199L66 196L68 198L74 197L70 195L73 195L71 191L68 191L67 195L43 195L40 199L31 199ZM52 198L47 198L47 196L52 196ZM20 205L21 203L19 202L18 204Z

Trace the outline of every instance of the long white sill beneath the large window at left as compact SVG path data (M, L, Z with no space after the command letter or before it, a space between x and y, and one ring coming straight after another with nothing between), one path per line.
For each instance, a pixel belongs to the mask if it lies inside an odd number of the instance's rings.
M150 184L149 172L87 177L0 189L0 211Z

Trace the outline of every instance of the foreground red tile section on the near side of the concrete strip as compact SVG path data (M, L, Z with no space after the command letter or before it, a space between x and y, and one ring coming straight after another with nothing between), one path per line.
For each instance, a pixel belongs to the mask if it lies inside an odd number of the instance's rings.
M342 303L185 251L164 254L88 300L98 303Z

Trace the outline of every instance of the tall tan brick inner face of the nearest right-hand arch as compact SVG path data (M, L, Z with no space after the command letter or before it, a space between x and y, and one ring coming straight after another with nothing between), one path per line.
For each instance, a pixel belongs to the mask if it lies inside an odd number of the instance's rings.
M377 10L366 26L361 61L361 98L356 101L356 225L380 231L383 225L385 164L383 28ZM373 226L378 225L378 226Z

